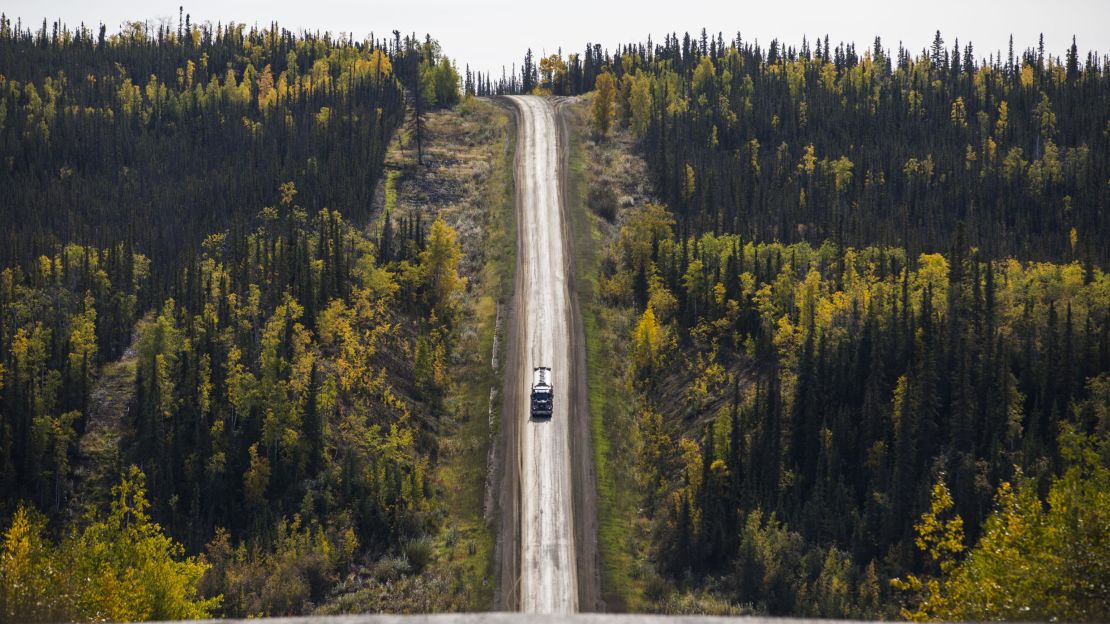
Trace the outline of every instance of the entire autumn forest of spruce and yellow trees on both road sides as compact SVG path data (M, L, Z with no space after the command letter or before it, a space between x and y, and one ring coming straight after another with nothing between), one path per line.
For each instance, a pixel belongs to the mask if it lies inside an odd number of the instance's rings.
M1110 618L1107 57L167 23L0 16L0 622L490 610L512 154L413 172L519 93L572 111L605 608Z

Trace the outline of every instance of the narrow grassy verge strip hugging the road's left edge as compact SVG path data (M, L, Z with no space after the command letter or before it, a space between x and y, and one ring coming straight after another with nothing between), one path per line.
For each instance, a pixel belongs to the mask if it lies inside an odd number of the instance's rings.
M490 101L461 104L493 134L488 148L491 171L481 190L481 227L474 273L463 301L458 361L451 375L448 411L454 423L441 435L441 461L435 482L444 494L446 519L436 536L438 561L465 586L468 607L487 611L495 590L494 545L487 483L490 453L501 416L497 335L502 313L512 293L516 265L516 222L513 210L513 154L516 134L508 113ZM463 111L464 114L467 111ZM498 351L495 353L495 350Z

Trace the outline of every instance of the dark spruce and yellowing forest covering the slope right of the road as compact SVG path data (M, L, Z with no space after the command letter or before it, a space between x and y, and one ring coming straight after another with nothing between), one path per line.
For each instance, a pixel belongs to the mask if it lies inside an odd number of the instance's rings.
M637 466L601 475L610 601L1110 615L1104 58L703 31L519 67L468 80L587 94L599 464Z

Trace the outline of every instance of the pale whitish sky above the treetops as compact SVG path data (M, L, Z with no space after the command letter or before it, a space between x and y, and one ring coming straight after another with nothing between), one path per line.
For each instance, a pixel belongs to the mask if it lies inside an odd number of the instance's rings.
M167 19L176 22L180 1L151 0L7 0L0 10L12 21L40 24L42 18L87 26L103 22L110 31L124 20ZM1078 37L1081 51L1110 52L1110 0L932 0L928 2L813 1L813 0L190 0L185 12L194 22L236 21L269 24L276 20L291 30L351 32L362 39L371 31L389 36L431 33L460 68L501 71L519 63L527 48L548 53L581 51L587 42L612 49L618 43L643 41L648 34L662 41L665 32L739 31L746 41L766 44L778 38L799 43L829 34L830 41L855 41L869 48L875 36L887 48L902 41L912 51L927 47L940 29L948 47L959 38L975 43L976 56L1005 50L1010 33L1015 48L1036 46L1045 33L1046 47L1062 54ZM2 69L2 68L0 68Z

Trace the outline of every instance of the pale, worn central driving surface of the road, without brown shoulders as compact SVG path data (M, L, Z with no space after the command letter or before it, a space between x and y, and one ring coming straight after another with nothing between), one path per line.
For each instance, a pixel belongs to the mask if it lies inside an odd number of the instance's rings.
M513 97L519 128L517 142L518 281L522 295L517 340L509 356L518 370L506 410L516 420L519 453L519 578L516 593L525 613L561 614L578 610L577 562L572 509L568 444L571 295L558 168L555 109L545 99ZM529 417L532 369L551 366L554 415ZM514 461L513 457L506 457Z

